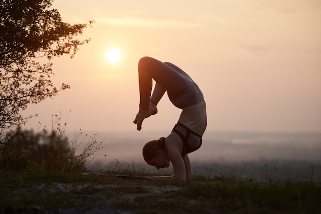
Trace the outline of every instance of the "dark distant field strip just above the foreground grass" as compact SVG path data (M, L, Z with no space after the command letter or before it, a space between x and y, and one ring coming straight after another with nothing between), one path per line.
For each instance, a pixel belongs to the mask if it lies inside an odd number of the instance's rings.
M110 169L121 165L129 170L144 168L146 172L157 174L172 174L173 168L159 169L149 166L144 162L123 162L119 160L110 163L96 163L92 166L94 169ZM239 174L247 178L255 178L257 181L264 181L267 175L280 180L294 179L321 182L321 164L310 161L296 160L258 160L258 161L209 161L192 162L192 172L194 174L208 174L211 176L219 174Z

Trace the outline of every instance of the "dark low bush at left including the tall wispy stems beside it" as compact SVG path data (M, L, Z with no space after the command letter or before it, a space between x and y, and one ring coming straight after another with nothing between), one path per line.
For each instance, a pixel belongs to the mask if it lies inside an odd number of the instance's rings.
M61 117L53 119L51 132L16 131L7 133L0 139L0 168L25 169L41 167L63 172L86 170L88 158L94 158L103 149L102 142L96 141L96 135L89 137L84 150L76 154L78 146L88 137L82 132L75 133L69 141L65 137L66 123L61 125ZM80 141L80 142L78 142Z

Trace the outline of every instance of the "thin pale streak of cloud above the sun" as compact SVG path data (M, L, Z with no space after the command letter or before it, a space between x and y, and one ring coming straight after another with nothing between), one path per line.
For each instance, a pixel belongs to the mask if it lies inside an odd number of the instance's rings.
M122 27L142 27L142 28L195 28L201 24L196 22L183 22L179 20L141 18L134 16L123 17L98 17L95 18L97 23Z

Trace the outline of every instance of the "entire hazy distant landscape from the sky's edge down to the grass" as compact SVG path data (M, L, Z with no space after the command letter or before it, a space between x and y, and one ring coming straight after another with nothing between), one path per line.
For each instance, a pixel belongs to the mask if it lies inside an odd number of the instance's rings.
M85 134L85 133L84 133ZM92 135L94 133L87 133ZM90 170L127 168L151 173L172 173L169 168L157 170L144 162L142 147L146 141L164 136L164 132L98 133L97 142L104 149L89 163ZM68 133L72 137L72 133ZM101 140L101 141L99 141ZM86 141L84 141L86 142ZM78 151L81 152L81 149ZM267 175L275 178L321 179L321 133L251 133L207 132L202 146L189 154L192 172L196 174L235 173L257 180ZM104 156L106 155L106 156Z

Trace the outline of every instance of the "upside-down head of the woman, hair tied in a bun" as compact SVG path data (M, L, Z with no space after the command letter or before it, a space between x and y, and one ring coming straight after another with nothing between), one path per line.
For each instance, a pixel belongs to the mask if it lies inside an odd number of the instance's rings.
M143 156L146 163L155 166L157 169L169 167L165 137L148 141L143 147Z

